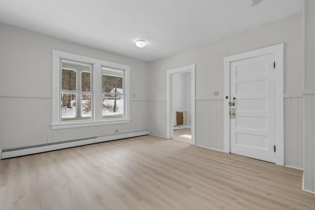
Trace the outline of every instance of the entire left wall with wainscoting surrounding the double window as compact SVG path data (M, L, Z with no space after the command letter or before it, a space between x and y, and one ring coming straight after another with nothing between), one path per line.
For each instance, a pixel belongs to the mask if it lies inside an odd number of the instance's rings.
M6 24L0 31L0 149L149 128L147 62ZM129 65L131 122L52 130L52 49Z

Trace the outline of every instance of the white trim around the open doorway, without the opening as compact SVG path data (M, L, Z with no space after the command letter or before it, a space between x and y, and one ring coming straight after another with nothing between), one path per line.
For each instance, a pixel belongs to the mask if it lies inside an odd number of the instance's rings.
M196 64L173 68L166 71L166 138L173 138L172 77L174 74L191 74L191 144L195 145L195 69Z

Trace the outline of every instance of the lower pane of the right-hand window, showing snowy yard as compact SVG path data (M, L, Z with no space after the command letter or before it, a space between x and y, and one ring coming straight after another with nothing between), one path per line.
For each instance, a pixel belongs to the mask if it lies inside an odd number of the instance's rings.
M108 118L124 118L124 96L112 97L111 95L103 95L102 99L102 117Z

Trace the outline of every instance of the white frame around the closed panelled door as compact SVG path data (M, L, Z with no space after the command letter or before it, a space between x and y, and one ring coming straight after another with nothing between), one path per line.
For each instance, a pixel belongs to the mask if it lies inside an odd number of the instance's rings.
M258 56L275 55L275 163L284 165L284 44L260 48L224 57L224 151L231 152L230 133L230 63ZM228 98L226 98L226 96Z

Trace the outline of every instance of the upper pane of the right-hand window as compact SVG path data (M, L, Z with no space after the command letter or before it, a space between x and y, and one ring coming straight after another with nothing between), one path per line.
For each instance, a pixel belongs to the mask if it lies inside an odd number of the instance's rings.
M122 70L102 68L102 91L123 94L123 75Z

